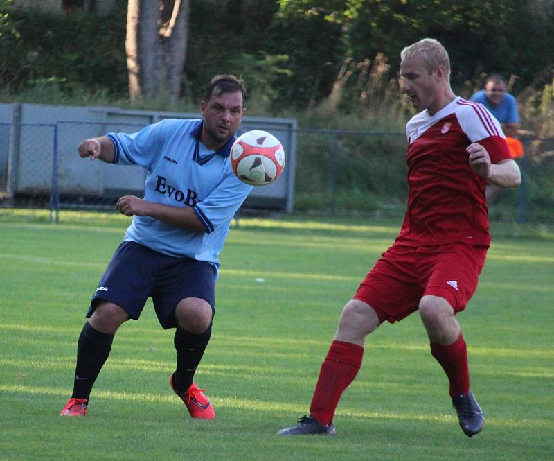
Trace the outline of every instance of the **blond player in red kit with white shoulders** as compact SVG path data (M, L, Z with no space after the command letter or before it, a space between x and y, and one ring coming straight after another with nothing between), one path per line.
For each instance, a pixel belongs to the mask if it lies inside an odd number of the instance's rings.
M409 198L404 223L344 306L337 333L321 365L310 416L278 435L335 433L339 399L361 366L366 336L385 320L419 311L431 355L449 380L449 394L468 437L484 415L470 390L467 349L456 313L477 287L490 244L487 181L518 186L499 122L450 87L447 51L423 39L400 53L400 85L417 110L406 125Z

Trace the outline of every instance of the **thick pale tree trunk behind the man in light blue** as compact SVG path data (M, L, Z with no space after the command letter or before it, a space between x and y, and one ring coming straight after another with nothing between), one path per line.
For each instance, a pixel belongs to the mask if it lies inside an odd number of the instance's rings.
M125 52L131 101L179 99L187 35L188 0L128 0Z

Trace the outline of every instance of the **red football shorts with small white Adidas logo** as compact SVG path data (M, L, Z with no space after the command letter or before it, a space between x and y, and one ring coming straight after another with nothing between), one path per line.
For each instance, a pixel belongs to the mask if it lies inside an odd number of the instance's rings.
M487 247L465 243L393 245L377 260L353 299L369 304L379 320L396 322L418 310L425 295L440 296L463 311L477 288Z

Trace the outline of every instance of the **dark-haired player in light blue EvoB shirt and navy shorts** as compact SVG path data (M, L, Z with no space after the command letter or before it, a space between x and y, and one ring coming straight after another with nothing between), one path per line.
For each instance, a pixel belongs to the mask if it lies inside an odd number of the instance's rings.
M87 414L89 395L123 322L138 319L152 297L164 329L175 328L177 367L170 385L190 416L213 419L193 381L211 336L215 281L229 225L252 187L238 180L229 150L244 116L246 89L235 76L215 76L200 104L202 119L166 119L134 134L86 139L80 157L137 164L146 171L144 198L121 197L133 216L80 333L73 394L60 415Z

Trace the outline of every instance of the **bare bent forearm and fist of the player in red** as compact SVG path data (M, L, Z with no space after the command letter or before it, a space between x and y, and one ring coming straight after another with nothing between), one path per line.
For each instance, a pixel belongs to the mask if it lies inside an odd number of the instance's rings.
M517 187L521 183L519 166L512 159L505 159L497 164L490 162L488 151L479 143L467 146L469 161L476 173L498 187Z

